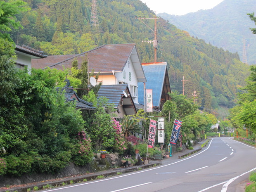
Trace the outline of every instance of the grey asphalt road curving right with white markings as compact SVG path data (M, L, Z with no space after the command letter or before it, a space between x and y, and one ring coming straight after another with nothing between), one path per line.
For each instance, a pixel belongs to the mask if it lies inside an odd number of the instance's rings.
M256 148L218 137L184 159L169 158L162 166L47 192L235 192L251 171L256 171Z

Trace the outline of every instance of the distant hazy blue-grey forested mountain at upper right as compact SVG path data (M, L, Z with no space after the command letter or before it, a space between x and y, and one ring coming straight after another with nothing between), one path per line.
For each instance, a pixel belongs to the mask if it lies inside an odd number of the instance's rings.
M175 16L158 14L178 28L188 31L191 36L204 39L214 46L230 52L238 52L243 58L243 39L247 63L256 64L256 35L249 28L255 24L247 13L256 12L255 0L224 0L213 9Z

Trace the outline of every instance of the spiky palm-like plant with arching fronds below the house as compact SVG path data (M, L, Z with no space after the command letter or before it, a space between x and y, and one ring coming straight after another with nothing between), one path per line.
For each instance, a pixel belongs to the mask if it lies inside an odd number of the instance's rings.
M141 127L137 121L129 118L121 119L122 124L122 134L125 137L133 135L133 133L141 133Z

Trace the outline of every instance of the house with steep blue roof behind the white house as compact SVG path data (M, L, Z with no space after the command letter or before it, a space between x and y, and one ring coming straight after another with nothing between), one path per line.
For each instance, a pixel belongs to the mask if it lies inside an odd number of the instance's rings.
M142 63L147 82L146 89L152 89L153 111L161 111L164 103L171 100L168 92L171 92L171 85L168 76L167 63ZM138 83L138 109L144 107L144 83Z

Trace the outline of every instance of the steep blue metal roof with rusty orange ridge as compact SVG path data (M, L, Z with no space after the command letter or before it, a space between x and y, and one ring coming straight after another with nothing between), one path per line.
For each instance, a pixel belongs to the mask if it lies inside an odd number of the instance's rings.
M166 62L142 65L147 83L146 89L152 89L153 106L160 106L161 94L166 73ZM144 84L138 83L138 102L144 105Z

